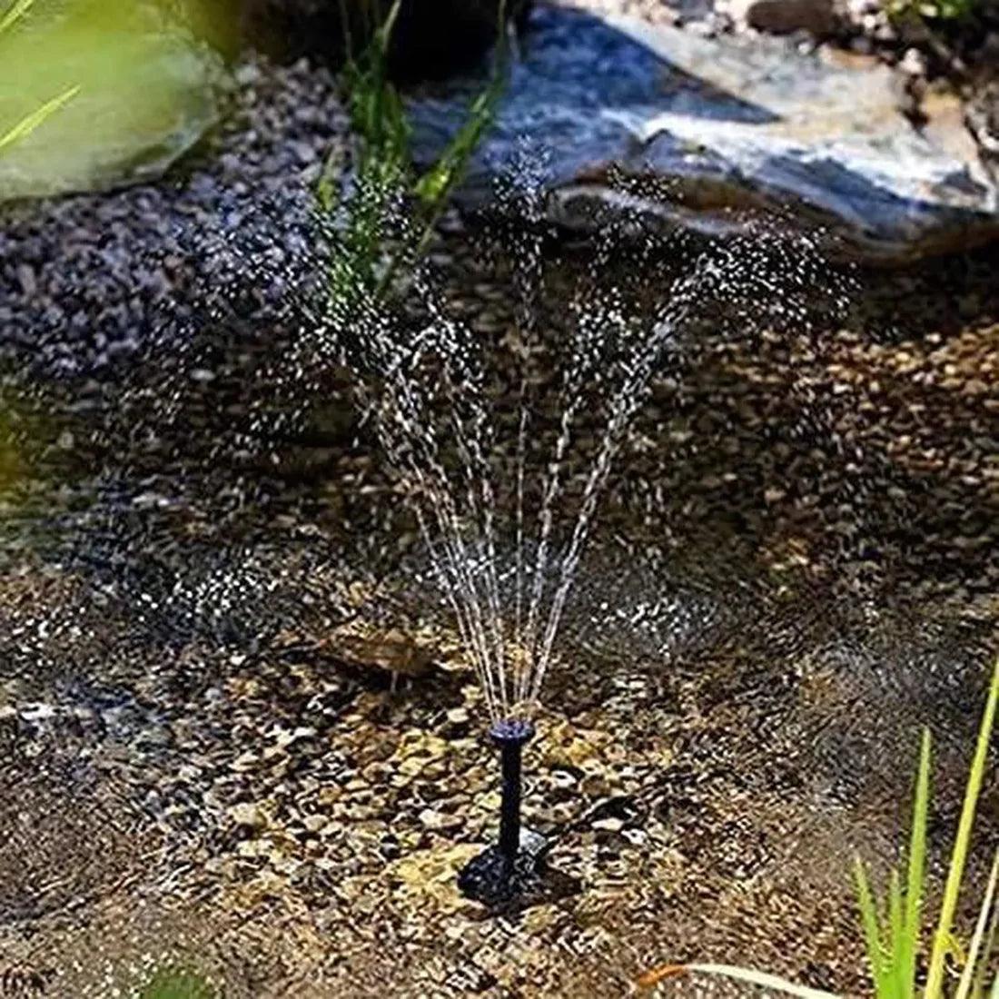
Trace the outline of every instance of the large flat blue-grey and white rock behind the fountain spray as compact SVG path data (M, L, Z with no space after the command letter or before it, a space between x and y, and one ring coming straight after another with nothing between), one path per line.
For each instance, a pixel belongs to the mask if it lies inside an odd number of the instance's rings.
M418 160L481 87L466 78L414 99ZM498 174L526 146L544 162L549 218L573 229L629 207L725 232L763 210L882 263L999 236L999 193L960 114L917 130L898 103L884 66L541 8L460 199L496 205Z

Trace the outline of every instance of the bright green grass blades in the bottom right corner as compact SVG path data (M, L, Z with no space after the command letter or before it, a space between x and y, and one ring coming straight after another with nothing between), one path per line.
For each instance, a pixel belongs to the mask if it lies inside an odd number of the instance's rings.
M921 914L926 894L926 827L930 800L931 737L924 730L916 776L912 810L912 830L909 840L908 868L905 885L896 869L891 871L885 897L872 890L867 869L856 861L857 900L866 942L867 963L877 999L941 999L947 957L957 948L954 944L954 915L964 882L968 850L975 821L975 811L985 777L989 742L995 726L999 704L999 660L996 661L992 684L982 714L978 741L971 761L964 805L958 823L943 899L928 955L926 985L920 990L917 959L920 948ZM999 850L992 862L978 918L972 931L954 999L999 999L999 973L991 986L988 976L993 954L999 944ZM747 968L723 964L671 964L647 972L638 984L653 987L660 982L682 975L714 975L733 979L797 996L799 999L834 999L829 992L805 988L793 982Z

